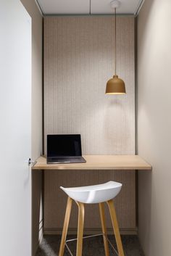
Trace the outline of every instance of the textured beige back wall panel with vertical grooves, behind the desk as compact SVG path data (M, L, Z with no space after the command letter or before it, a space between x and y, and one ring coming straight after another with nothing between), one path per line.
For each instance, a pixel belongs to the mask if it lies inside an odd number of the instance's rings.
M114 73L114 17L46 17L44 20L44 131L80 133L83 154L135 153L134 18L117 18L117 74L127 94L107 96ZM46 151L46 150L45 150ZM45 228L60 228L64 194L59 185L124 181L117 199L120 226L135 228L135 172L45 174ZM102 178L99 178L102 176ZM84 177L84 179L82 179ZM118 178L120 177L120 178ZM69 182L70 181L70 182ZM119 197L118 197L119 198ZM56 206L51 208L51 200ZM119 202L120 201L120 202ZM57 204L60 203L57 216ZM131 204L130 204L131 202ZM125 205L126 204L126 205ZM126 215L126 216L125 216ZM89 225L89 224L88 224ZM97 227L96 216L90 227ZM75 223L76 226L76 223ZM89 226L88 226L89 227Z

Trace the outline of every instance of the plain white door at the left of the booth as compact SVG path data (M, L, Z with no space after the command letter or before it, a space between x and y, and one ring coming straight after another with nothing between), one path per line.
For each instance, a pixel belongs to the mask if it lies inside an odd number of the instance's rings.
M0 6L0 255L31 256L31 18Z

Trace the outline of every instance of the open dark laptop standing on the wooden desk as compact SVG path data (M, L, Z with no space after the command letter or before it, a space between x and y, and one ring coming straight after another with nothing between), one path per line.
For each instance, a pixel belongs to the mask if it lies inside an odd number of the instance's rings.
M86 162L82 157L80 134L47 135L47 164Z

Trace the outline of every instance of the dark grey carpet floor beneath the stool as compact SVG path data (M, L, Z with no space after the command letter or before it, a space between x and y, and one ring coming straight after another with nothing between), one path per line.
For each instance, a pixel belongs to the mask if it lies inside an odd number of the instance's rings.
M75 238L75 236L67 237L67 239L73 238ZM60 239L61 236L44 236L36 256L58 256ZM116 248L114 236L109 236L109 240ZM125 256L144 256L137 236L122 236L122 244ZM76 241L70 241L68 246L70 247L72 254L75 255ZM116 256L116 253L110 245L109 250L111 256ZM64 250L64 256L70 256L66 247ZM83 256L105 256L102 236L83 240Z

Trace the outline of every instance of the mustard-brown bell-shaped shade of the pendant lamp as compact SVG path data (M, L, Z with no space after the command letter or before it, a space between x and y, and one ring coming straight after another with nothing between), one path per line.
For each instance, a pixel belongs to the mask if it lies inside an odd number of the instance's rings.
M118 78L118 75L114 75L113 78L108 80L106 94L126 94L125 83Z

